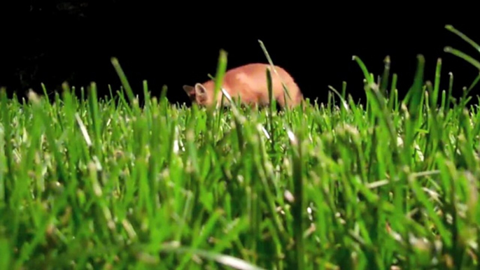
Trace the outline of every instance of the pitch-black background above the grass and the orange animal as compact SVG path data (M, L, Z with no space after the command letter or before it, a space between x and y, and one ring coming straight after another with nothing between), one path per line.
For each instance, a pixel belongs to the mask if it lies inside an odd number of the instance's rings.
M135 92L148 80L153 95L167 85L171 102L185 102L181 86L208 79L216 72L220 49L228 52L228 67L267 62L258 39L275 64L292 73L306 97L325 101L327 86L365 99L362 71L352 61L358 55L376 75L390 55L398 88L408 90L417 59L426 59L425 79L434 80L437 57L442 57L442 89L447 74L455 90L470 85L478 71L463 59L446 54L446 45L480 55L446 30L453 24L480 43L480 24L453 10L419 10L414 6L352 6L347 2L241 2L217 6L186 1L13 1L1 33L0 85L22 96L31 88L61 89L64 80L76 87L95 81L100 94L114 90L120 80L111 57L120 64ZM448 8L448 7L447 7ZM467 8L463 7L464 10ZM428 16L430 14L430 17ZM480 87L480 86L479 86ZM456 93L458 95L458 93Z

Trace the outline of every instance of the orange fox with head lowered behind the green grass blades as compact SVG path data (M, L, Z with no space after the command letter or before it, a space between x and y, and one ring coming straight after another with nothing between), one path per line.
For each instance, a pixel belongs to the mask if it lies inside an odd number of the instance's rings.
M303 94L292 76L280 66L275 66L276 72L271 69L269 64L255 63L238 66L225 73L222 87L230 94L232 99L235 100L240 97L242 104L265 106L269 104L267 68L271 71L272 99L276 99L282 108L285 107L285 103L290 108L298 106L303 99ZM281 76L281 78L278 78L278 76ZM282 83L285 83L290 98L283 90ZM183 85L183 90L188 94L190 100L199 106L210 106L214 103L215 81L213 80L197 83L195 86ZM217 94L217 104L220 104L222 97L223 93L220 90ZM229 101L225 99L223 103L228 105Z

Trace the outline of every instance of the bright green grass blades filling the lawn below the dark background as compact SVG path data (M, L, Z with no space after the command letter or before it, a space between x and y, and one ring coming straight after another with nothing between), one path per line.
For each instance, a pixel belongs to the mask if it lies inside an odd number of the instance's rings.
M399 100L388 57L379 80L353 60L365 108L346 83L305 111L186 108L147 83L139 106L116 59L126 96L3 90L0 269L478 268L480 76L453 99L418 55Z

